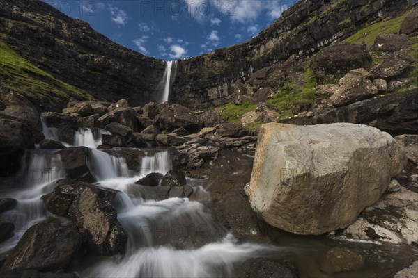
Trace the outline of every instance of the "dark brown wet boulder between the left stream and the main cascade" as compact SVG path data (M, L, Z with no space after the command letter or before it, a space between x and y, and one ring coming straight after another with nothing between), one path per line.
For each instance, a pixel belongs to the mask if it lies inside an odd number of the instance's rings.
M91 252L103 256L125 252L127 236L109 200L116 192L89 183L62 179L52 193L42 196L48 211L72 219Z

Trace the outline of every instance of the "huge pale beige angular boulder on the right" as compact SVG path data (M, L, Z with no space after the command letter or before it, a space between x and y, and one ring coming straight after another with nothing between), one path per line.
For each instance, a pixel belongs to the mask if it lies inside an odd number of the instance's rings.
M388 133L358 124L264 124L251 174L251 207L274 227L323 234L348 227L403 170Z

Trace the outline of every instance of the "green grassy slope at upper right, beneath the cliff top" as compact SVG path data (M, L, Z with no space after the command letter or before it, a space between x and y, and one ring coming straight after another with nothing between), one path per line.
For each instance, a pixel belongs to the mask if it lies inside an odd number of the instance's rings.
M361 44L365 42L368 47L373 45L376 37L381 34L394 34L398 33L401 30L401 23L410 14L410 12L401 15L400 17L395 17L394 19L389 19L385 22L378 22L363 28L358 31L350 38L346 38L346 42L353 44Z

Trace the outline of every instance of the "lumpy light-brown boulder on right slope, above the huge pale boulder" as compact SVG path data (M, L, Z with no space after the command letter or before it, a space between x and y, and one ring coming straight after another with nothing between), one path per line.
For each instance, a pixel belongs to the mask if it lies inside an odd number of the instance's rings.
M330 97L331 103L334 106L345 106L377 95L378 88L368 79L370 76L370 72L364 69L348 72L340 79L339 88Z

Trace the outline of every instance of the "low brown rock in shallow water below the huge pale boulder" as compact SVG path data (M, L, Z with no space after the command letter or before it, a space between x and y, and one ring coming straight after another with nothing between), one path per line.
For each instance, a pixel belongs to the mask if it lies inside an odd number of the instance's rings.
M330 274L355 271L364 268L364 261L364 257L357 252L343 247L334 247L328 250L320 268Z

